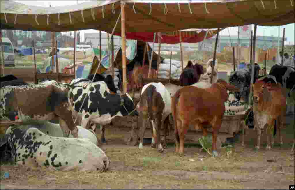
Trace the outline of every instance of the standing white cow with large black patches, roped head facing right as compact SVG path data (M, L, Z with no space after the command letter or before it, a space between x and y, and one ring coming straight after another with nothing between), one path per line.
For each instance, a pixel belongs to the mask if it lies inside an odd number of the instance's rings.
M101 142L106 142L104 125L110 124L115 116L138 115L132 98L127 93L123 95L111 93L104 81L92 83L91 86L90 81L83 79L81 82L75 80L72 83L77 85L69 96L74 117L78 119L80 117L81 127L84 128L90 128L90 122L102 125ZM81 108L84 98L85 102ZM79 125L79 122L76 124ZM94 126L93 130L95 128Z

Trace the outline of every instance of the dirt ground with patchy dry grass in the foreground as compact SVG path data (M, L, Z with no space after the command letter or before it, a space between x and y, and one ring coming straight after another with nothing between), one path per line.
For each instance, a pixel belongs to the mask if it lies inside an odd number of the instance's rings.
M62 172L2 165L1 189L288 189L295 178L292 133L292 126L287 126L282 132L284 145L275 144L271 150L266 150L263 135L262 148L255 150L255 131L249 129L246 146L241 146L240 137L229 157L225 148L214 158L193 144L186 144L185 155L179 157L174 143L169 143L164 153L150 145L140 150L124 145L122 130L109 127L108 143L102 146L110 159L108 171ZM3 178L4 171L9 178Z

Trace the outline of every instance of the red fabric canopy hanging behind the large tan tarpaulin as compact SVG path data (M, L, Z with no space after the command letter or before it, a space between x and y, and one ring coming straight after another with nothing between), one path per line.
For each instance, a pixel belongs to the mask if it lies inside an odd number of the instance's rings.
M223 30L223 29L222 29ZM221 30L219 30L220 32ZM161 43L165 44L178 44L181 42L186 43L197 43L204 40L207 30L190 30L183 31L178 30L174 32L161 32ZM206 39L209 39L217 34L217 30L209 30ZM116 36L121 36L121 33L114 33ZM126 39L140 40L143 42L153 42L154 33L153 32L126 32ZM155 43L158 43L158 38L155 38Z

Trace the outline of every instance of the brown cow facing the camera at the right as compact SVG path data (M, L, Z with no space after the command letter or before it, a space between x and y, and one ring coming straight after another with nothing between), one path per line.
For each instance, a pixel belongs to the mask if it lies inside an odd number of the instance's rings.
M271 83L271 80L274 83ZM268 81L268 82L267 82ZM254 126L257 130L257 145L260 148L260 136L264 128L268 129L267 149L274 144L272 136L275 120L278 126L280 143L283 144L281 128L284 124L286 113L286 97L280 83L272 75L259 78L253 85L253 114ZM271 141L271 144L270 144Z

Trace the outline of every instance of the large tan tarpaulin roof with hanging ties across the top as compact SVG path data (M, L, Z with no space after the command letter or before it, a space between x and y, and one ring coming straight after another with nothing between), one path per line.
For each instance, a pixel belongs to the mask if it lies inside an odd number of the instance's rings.
M294 0L187 2L164 4L155 1L125 1L126 32L169 32L189 28L224 28L246 24L279 26L294 23ZM96 29L112 33L120 10L120 1L39 7L1 0L1 29L55 32ZM120 21L115 32L121 32Z

